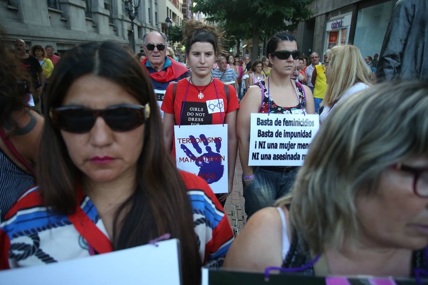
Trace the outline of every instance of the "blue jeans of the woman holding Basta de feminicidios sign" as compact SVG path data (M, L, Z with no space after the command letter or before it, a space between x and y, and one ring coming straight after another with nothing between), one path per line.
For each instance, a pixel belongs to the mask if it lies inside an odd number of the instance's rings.
M298 168L291 172L266 170L262 167L254 167L254 178L248 186L244 185L245 213L248 218L262 208L273 205L276 199L288 193L294 183Z

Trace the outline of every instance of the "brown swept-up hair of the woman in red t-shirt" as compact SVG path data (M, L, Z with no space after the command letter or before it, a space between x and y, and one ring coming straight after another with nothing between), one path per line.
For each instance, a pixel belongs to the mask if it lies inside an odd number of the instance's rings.
M186 55L189 54L190 48L196 42L212 44L216 55L219 53L226 54L222 43L224 33L224 31L220 31L216 26L202 21L188 21L183 27L183 44L186 47Z

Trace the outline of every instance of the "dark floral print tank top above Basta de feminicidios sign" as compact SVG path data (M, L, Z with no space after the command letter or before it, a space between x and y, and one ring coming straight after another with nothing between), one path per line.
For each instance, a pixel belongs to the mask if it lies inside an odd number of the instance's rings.
M296 88L297 88L297 97L299 98L300 104L294 106L294 107L281 107L276 105L275 102L273 102L272 98L269 96L268 88L266 88L265 80L262 79L259 82L257 82L255 85L259 86L260 89L263 89L265 91L263 96L263 102L261 104L259 113L268 113L270 112L275 114L295 114L295 115L301 115L303 112L306 114L306 96L303 91L303 86L299 82L295 82ZM303 109L302 109L303 108Z

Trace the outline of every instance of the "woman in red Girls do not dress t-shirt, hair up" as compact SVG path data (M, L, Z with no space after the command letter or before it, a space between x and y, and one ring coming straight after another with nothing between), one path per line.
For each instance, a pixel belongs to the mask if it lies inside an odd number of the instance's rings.
M236 139L236 114L238 97L235 88L211 77L211 69L221 48L224 32L215 26L200 21L189 21L184 26L183 38L186 47L187 61L192 75L177 82L175 92L173 84L166 88L163 98L163 136L166 147L172 149L175 156L174 125L214 125L228 124L228 193L217 195L222 203L232 191L235 173L238 141ZM225 88L229 90L226 95ZM174 94L175 93L175 94ZM223 106L211 110L210 101ZM193 115L191 115L193 114Z

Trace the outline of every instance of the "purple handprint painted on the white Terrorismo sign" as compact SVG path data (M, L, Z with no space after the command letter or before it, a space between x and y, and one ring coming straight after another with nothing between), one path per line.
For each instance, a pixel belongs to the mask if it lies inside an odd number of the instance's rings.
M223 160L225 160L224 156L220 155L221 138L206 138L203 134L199 135L199 139L195 138L193 135L190 135L189 138L193 148L200 156L195 156L184 144L181 144L181 149L190 161L194 161L199 167L198 176L205 179L208 184L219 181L223 177ZM199 142L203 142L205 150L207 151L206 153L201 154L202 149L199 147ZM214 153L211 147L208 146L209 142L214 142L217 153Z

